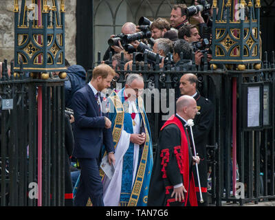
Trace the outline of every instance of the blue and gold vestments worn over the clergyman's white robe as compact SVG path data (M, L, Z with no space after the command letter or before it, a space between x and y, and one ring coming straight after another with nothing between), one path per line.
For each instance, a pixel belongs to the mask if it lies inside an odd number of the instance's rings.
M124 89L109 96L110 112L109 118L112 122L113 144L116 147L122 133L122 124L127 133L133 133L131 115L124 113ZM122 189L120 195L121 206L146 206L148 187L153 167L153 148L151 141L151 131L144 110L144 104L141 97L137 99L140 120L142 120L146 133L146 141L143 148L140 148L140 160L135 175L135 181L132 188L133 179L133 143L130 143L128 150L124 155L122 171ZM103 174L102 174L103 175Z

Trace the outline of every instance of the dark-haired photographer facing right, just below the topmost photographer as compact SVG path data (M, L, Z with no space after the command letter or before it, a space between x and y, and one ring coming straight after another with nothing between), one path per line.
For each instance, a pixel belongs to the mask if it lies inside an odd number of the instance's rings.
M188 43L192 43L193 49L195 52L195 63L196 65L201 65L201 58L203 58L203 53L201 52L202 50L207 53L207 59L208 62L212 59L212 55L208 53L208 48L210 47L210 43L208 39L205 39L205 41L201 41L201 36L199 36L199 32L197 30L196 25L184 25L179 29L178 33L179 39L184 39ZM200 43L200 42L208 42L208 45ZM201 45L203 48L197 48L196 45ZM201 50L199 50L201 49ZM205 50L206 49L206 50Z

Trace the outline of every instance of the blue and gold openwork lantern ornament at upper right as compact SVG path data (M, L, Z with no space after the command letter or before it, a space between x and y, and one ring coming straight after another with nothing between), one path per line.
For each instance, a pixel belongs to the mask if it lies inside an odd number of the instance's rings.
M260 0L252 1L248 1L248 13L244 11L245 0L238 1L240 5L232 0L213 1L217 7L213 7L211 64L261 63L258 31L261 3Z

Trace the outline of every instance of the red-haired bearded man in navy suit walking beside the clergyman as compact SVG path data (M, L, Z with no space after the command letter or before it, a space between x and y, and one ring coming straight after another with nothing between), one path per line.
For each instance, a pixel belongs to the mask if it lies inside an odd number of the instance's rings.
M74 94L72 107L75 117L75 146L73 155L80 164L80 184L74 206L86 206L91 199L93 206L104 206L102 181L99 173L101 148L104 144L109 164L115 164L111 121L102 112L100 91L110 87L115 72L109 65L94 68L91 81Z

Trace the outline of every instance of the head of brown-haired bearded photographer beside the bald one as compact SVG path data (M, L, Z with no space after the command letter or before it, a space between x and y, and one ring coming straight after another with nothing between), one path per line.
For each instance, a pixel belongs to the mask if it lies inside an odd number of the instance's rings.
M158 18L150 26L153 39L160 39L164 34L170 30L170 23L166 19Z

